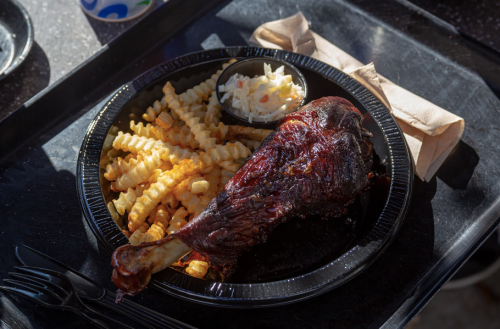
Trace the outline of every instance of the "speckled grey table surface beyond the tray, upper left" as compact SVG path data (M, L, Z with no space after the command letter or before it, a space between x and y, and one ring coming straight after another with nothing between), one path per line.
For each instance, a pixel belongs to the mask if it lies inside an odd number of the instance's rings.
M23 65L0 81L0 121L147 15L107 23L86 15L79 0L18 1L30 15L35 42ZM155 0L148 12L165 1Z

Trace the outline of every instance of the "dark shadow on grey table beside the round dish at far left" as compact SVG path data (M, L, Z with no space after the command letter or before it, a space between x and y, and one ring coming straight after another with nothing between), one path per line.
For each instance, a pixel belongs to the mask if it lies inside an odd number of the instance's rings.
M24 63L0 81L0 120L47 87L49 80L49 60L43 49L34 42Z

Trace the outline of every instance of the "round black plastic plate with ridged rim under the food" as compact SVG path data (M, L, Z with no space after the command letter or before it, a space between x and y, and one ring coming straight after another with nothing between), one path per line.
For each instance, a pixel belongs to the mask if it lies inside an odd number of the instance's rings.
M256 47L202 51L159 65L125 84L99 112L87 130L78 160L77 189L88 223L108 251L128 243L106 207L106 202L113 195L105 183L101 185L104 179L99 170L99 160L103 141L111 125L118 125L127 131L128 114L132 107L137 106L140 100L149 99L152 102L158 99L161 86L166 81L172 81L176 91L182 92L204 81L220 68L223 61L250 56L268 56L295 65L307 80L309 100L333 95L347 98L357 106L364 115L364 126L374 134L376 154L381 159L386 159L385 170L391 177L391 186L385 200L370 204L375 196L365 198L366 204L361 207L365 210L363 213L369 215L361 215L362 227L348 241L348 250L339 253L341 248L332 248L326 253L330 257L313 262L305 273L297 268L289 268L276 277L268 276L263 283L258 282L258 278L262 276L255 277L252 283L248 283L252 281L248 277L240 279L245 283L222 283L195 279L167 269L155 275L150 283L150 286L162 291L204 304L226 307L281 305L316 296L343 284L366 269L385 250L404 219L412 192L412 161L399 126L378 99L347 74L307 56L286 51ZM375 215L371 221L370 215ZM293 225L297 226L297 223L289 226ZM300 229L300 223L298 227ZM323 229L327 228L321 227L315 232ZM276 234L273 235L273 238L279 239L279 233L277 237ZM318 250L323 250L328 245L327 240L323 243ZM272 252L279 254L279 248ZM313 253L314 250L310 250L302 261L306 262L306 258Z

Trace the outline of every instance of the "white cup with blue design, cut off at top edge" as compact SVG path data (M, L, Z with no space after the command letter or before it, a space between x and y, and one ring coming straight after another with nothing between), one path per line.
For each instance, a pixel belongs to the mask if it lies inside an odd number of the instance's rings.
M80 0L83 10L95 19L123 22L144 14L155 0Z

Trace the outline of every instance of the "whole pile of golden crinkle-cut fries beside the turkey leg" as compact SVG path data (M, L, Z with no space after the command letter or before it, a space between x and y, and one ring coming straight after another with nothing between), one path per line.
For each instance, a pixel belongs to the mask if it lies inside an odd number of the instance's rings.
M167 82L164 97L142 115L146 124L131 114L131 132L111 128L101 168L120 194L108 209L117 223L128 218L123 233L132 245L159 240L186 225L272 132L220 122L215 87L221 73L180 95ZM200 278L207 270L199 260L186 268Z

